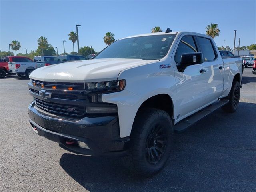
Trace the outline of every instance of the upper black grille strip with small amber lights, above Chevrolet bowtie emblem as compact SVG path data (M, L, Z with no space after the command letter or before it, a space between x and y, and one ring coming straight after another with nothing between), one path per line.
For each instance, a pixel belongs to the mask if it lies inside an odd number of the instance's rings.
M62 82L46 82L31 79L34 86L52 89L52 86L56 86L58 90L68 90L72 87L73 90L84 90L84 83L62 83Z

